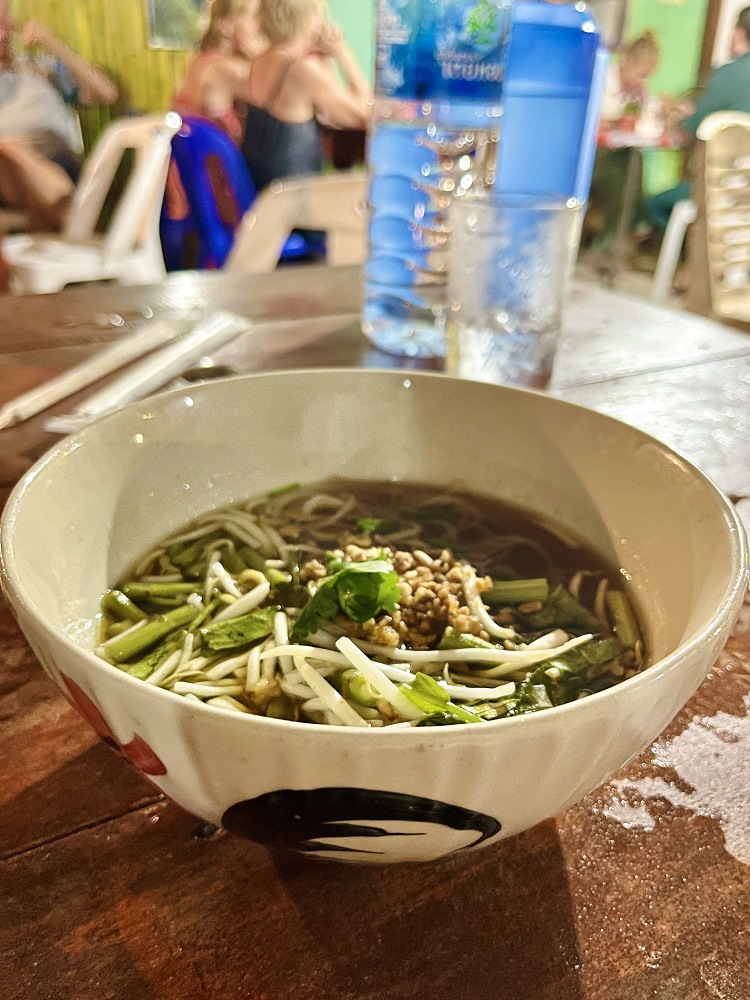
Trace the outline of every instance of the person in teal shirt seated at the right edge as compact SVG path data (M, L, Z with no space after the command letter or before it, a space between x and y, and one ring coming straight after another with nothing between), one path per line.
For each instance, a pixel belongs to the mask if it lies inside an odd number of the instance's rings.
M750 114L750 7L740 11L732 32L732 62L720 66L709 77L703 97L693 108L687 102L677 103L670 115L669 127L683 140L693 145L698 126L715 111L743 111ZM646 199L649 217L662 234L678 201L690 197L692 184L683 181L667 191Z

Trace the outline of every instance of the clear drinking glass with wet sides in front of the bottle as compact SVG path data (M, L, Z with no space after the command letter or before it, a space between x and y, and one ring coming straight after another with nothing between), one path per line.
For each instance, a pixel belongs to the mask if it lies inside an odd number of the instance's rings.
M545 389L580 234L579 202L470 193L450 210L446 371Z

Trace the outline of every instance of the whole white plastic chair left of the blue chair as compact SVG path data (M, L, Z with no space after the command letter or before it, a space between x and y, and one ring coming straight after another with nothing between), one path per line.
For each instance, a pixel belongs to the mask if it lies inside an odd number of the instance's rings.
M164 278L159 212L172 136L181 124L170 112L110 125L84 165L63 232L5 239L11 290L56 292L71 282L115 279L135 285ZM107 231L97 234L104 200L127 149L135 153L133 169Z

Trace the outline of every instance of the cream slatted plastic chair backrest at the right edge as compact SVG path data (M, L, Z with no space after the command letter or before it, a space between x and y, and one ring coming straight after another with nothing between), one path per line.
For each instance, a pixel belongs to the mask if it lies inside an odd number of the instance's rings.
M698 201L705 213L711 309L717 316L750 319L750 115L708 115L698 138L704 143Z

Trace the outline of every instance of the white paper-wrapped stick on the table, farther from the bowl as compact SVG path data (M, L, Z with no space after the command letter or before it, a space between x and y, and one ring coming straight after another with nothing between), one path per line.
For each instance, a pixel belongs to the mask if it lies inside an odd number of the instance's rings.
M149 351L163 347L179 337L187 325L186 320L157 320L138 327L117 343L98 351L93 358L68 369L0 408L0 430L12 427L35 417L68 396L85 389L99 379L123 368Z

